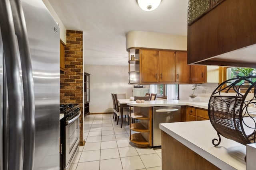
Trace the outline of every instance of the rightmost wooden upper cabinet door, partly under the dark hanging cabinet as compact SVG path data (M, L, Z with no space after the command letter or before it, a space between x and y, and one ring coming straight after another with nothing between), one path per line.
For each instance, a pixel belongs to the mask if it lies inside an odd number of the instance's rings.
M191 83L205 83L207 82L206 66L191 65Z

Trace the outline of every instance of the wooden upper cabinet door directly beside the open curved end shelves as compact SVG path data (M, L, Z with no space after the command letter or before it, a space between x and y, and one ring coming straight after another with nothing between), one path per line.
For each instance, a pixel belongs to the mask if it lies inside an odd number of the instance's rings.
M141 82L158 82L158 51L140 50Z

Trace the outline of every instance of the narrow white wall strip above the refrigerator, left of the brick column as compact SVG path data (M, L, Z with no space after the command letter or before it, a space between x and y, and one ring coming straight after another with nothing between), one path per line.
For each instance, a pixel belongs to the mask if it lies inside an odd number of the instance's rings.
M52 17L54 18L54 20L58 23L58 25L60 27L60 39L62 40L62 42L64 44L66 44L66 42L67 42L66 41L66 27L64 26L64 24L62 23L62 21L60 20L60 18L54 11L54 9L52 8L52 5L50 4L50 2L48 0L42 0L42 1L44 2L44 5L49 10L49 12L52 14Z

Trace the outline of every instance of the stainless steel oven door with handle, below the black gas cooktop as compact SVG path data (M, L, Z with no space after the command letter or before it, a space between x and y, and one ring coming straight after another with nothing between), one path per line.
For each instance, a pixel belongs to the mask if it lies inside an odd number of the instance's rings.
M70 164L73 162L73 158L79 151L80 131L79 131L79 116L81 112L78 111L78 115L70 120L66 120L66 166L65 170L70 168Z

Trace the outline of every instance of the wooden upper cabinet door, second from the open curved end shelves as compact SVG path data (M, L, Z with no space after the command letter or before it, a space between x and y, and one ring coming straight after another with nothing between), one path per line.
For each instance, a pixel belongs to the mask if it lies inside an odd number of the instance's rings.
M159 51L159 82L175 82L175 52Z

